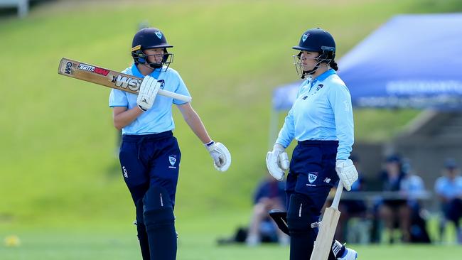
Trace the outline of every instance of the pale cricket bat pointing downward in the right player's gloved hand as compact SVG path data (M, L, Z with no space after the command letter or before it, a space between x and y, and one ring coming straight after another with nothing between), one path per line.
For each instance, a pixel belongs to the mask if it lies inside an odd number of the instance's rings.
M324 210L323 220L321 220L321 227L319 227L318 237L314 242L313 252L311 253L310 260L327 260L329 253L331 252L333 236L335 229L337 229L338 218L340 217L340 211L338 211L338 202L340 202L340 196L342 195L343 183L341 180L338 181L337 191L331 207Z

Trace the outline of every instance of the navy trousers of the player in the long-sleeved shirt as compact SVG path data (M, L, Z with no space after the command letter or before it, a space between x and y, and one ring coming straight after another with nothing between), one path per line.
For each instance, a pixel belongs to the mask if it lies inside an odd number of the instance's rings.
M287 225L291 237L290 259L310 259L321 209L338 181L335 172L338 141L299 141L292 153L286 180ZM335 259L330 251L328 259Z

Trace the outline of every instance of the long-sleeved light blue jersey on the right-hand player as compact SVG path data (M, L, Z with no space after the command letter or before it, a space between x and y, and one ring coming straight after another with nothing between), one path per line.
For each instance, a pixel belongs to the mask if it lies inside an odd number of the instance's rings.
M276 143L287 147L292 139L338 140L337 160L350 157L354 142L351 97L335 70L301 84Z

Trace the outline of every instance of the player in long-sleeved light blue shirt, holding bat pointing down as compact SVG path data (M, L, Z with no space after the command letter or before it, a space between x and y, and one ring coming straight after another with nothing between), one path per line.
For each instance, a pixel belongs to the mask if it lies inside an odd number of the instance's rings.
M293 48L299 51L294 55L297 73L306 80L299 87L273 151L267 154L267 168L277 180L289 169L286 224L291 237L290 259L307 260L329 191L339 178L340 190L342 185L350 190L358 172L349 159L354 140L351 97L335 73L333 37L313 28L303 33ZM293 139L298 144L289 164L285 149ZM340 242L331 239L327 243L331 249L328 259L354 260L358 256Z

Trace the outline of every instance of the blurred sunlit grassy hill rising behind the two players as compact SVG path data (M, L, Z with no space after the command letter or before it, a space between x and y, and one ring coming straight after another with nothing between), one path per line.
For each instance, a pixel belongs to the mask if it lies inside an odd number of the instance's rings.
M394 14L461 10L459 1L436 0L65 1L21 20L4 18L0 226L133 217L114 151L109 89L58 76L62 57L123 70L131 62L138 23L161 28L174 45L172 67L188 85L193 107L233 160L227 173L217 173L174 109L183 153L176 214L213 212L231 219L242 216L232 211L248 210L252 189L266 174L270 94L274 86L297 79L291 46L303 31L316 26L331 31L341 57ZM357 139L390 136L416 113L356 112Z

